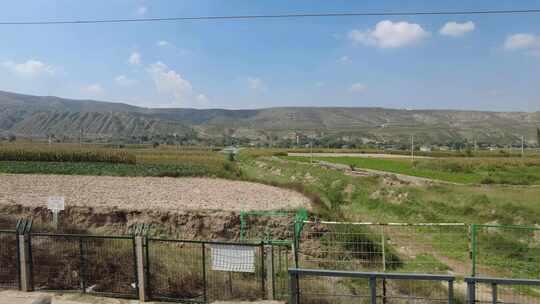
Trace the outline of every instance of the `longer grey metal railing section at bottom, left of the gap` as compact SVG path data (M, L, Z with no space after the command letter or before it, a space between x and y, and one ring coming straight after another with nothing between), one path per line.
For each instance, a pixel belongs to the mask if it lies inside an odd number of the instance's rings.
M378 299L382 299L383 303L391 299L399 298L400 300L428 300L432 303L454 303L454 276L448 275L430 275L430 274L406 274L406 273L380 273L380 272L354 272L354 271L336 271L336 270L316 270L316 269L298 269L291 268L289 269L290 275L290 302L289 304L299 304L304 303L302 301L302 288L301 288L301 277L331 277L331 278L349 278L349 279L363 279L368 281L368 290L366 294L355 294L355 295L346 295L354 298L363 298L368 300L371 304L376 304ZM429 296L419 296L414 294L404 294L404 295L380 295L378 291L378 282L379 281L388 281L388 280L397 280L397 281L413 281L413 282L435 282L448 283L448 289L446 292L446 297L429 297ZM440 285L440 284L439 284ZM383 285L384 288L384 285ZM320 301L321 298L325 296L330 297L343 297L343 294L334 294L328 295L319 291L315 295ZM308 299L305 302L310 302ZM334 303L335 301L332 301ZM339 302L339 301L338 301Z

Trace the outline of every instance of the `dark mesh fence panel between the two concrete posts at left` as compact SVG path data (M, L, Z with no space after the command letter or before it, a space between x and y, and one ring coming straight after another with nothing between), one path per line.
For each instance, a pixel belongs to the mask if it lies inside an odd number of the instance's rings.
M35 290L136 297L133 238L32 234Z

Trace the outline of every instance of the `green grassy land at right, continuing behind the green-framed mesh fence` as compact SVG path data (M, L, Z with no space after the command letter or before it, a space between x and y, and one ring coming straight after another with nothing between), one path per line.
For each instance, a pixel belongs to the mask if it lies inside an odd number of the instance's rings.
M316 205L313 211L325 220L491 223L534 227L540 218L540 206L534 203L540 197L540 187L474 184L418 186L392 178L353 177L338 170L310 165L309 158L275 157L276 151L267 151L266 155L256 151L256 154L261 155L258 157L251 156L253 154L243 154L242 170L246 176L254 180L273 181L276 185L302 184L321 198L320 204ZM439 170L447 174L446 176L455 174L450 171L457 171L456 175L461 179L454 181L463 182L465 178L470 178L470 183L481 180L480 177L485 174L481 170L487 171L489 167L493 172L492 177L506 174L512 178L520 178L520 175L526 175L527 172L538 174L535 173L538 171L530 171L538 170L538 163L534 158L422 159L416 163L416 168L412 168L407 160L323 158L326 161L336 159L351 161L340 163L358 167L360 164L356 161L367 163L377 166L372 167L376 170ZM450 226L445 229L387 227L385 231L388 249L395 251L395 256L401 263L398 263L399 267L395 271L452 271L457 275L470 274L467 226ZM368 237L361 242L366 243L372 239L373 246L376 247L379 231L375 228L372 231L374 238ZM508 232L486 228L478 239L479 273L538 278L538 235L540 232ZM373 252L380 251L375 247ZM374 255L373 258L380 257ZM354 259L347 261L354 263ZM390 265L391 263L387 266Z

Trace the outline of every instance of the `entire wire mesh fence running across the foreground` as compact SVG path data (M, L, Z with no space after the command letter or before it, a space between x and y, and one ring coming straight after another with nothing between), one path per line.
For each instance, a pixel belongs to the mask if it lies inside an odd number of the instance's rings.
M264 229L271 228L267 223ZM269 298L270 292L273 298L286 299L291 267L451 274L458 277L459 286L469 275L540 279L536 227L295 221L282 228L277 229L290 231L292 240L145 238L146 289L156 300L258 300ZM28 239L34 289L137 297L134 236L31 233ZM19 285L18 246L14 231L0 231L0 287ZM369 286L363 278L305 277L299 283L308 303L362 302ZM491 289L479 283L477 303L489 302ZM377 280L381 303L438 303L446 290L444 282ZM456 293L459 300L465 289ZM540 303L540 288L501 285L498 296L500 303Z

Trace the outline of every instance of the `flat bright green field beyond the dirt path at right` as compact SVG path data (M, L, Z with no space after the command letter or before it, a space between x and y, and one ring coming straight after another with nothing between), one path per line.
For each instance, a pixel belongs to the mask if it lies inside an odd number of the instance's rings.
M309 157L284 158L311 161ZM540 160L537 158L433 158L412 162L408 159L316 157L314 160L462 184L540 184Z

